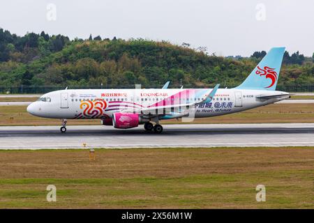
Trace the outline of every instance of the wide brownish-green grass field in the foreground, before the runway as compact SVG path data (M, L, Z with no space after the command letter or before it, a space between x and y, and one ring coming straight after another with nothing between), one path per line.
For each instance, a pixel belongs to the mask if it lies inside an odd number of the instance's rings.
M311 147L0 151L0 208L314 208L313 180Z

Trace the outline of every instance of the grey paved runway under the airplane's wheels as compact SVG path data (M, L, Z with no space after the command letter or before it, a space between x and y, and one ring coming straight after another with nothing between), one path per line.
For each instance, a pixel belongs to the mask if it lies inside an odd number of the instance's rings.
M103 125L1 126L0 149L314 146L314 123L163 125L117 130Z

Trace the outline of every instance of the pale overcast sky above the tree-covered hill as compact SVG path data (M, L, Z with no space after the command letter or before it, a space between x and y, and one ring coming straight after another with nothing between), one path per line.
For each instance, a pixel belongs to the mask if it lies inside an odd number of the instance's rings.
M0 3L0 27L20 36L167 40L218 56L271 47L312 56L313 12L313 0L10 0Z

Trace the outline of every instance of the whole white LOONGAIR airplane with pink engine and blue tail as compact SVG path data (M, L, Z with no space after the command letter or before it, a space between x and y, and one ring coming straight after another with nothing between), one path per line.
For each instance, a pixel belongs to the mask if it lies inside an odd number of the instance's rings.
M290 98L276 91L285 47L269 50L242 84L233 89L65 89L42 95L27 107L33 116L68 119L99 118L103 125L163 132L160 120L202 118L242 112ZM188 120L188 119L187 119ZM193 119L192 119L193 120Z

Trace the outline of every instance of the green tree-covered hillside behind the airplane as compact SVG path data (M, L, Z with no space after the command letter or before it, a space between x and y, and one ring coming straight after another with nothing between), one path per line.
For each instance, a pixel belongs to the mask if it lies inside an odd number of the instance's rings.
M185 87L216 83L232 87L264 55L252 52L250 58L225 58L184 46L99 36L69 40L44 32L20 37L0 29L0 86L160 87L170 80L174 87L181 79ZM278 84L314 84L313 59L286 52Z

